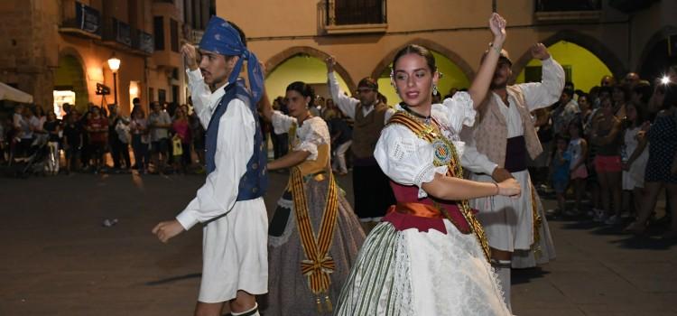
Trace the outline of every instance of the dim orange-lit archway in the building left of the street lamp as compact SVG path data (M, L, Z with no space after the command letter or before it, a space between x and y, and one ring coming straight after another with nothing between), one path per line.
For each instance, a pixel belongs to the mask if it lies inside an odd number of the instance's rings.
M84 61L79 52L67 47L59 53L59 66L54 70L54 89L70 89L75 92L75 107L79 111L87 108L89 92Z

